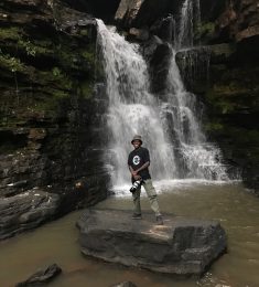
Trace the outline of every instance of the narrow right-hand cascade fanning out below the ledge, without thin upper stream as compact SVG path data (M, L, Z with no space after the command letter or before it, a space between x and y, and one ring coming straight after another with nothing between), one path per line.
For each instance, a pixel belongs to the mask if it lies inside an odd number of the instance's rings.
M180 178L227 180L220 150L206 141L197 115L201 113L195 95L186 92L175 63L175 51L168 76L168 93L161 108L165 125L173 126L171 132Z

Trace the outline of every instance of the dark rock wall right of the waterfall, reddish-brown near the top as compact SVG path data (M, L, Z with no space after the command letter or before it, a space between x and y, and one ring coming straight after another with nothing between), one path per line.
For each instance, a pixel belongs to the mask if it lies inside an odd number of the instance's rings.
M202 20L201 43L211 51L209 78L193 88L207 106L205 129L258 192L259 2L225 1L214 23Z

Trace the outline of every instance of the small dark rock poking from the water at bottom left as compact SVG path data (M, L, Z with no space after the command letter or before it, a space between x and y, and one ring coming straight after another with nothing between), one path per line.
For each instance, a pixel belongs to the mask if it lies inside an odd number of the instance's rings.
M18 283L15 287L39 286L42 284L46 284L61 273L61 267L56 264L52 264L48 267L34 273L25 281Z

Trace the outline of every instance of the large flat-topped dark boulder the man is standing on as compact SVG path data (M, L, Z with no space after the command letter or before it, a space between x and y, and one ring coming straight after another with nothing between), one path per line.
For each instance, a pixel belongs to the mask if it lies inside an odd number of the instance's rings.
M214 221L86 210L77 222L85 255L126 266L175 275L201 275L226 249L226 234Z

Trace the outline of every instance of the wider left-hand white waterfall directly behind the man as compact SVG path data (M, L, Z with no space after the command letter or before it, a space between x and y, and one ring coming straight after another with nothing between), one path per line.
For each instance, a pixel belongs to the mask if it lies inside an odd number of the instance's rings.
M109 98L110 140L106 161L114 168L114 185L129 182L127 159L136 134L143 137L144 146L151 151L153 178L177 178L174 150L161 120L161 105L149 92L148 67L139 46L128 43L114 28L107 29L101 20L97 20L97 24Z

